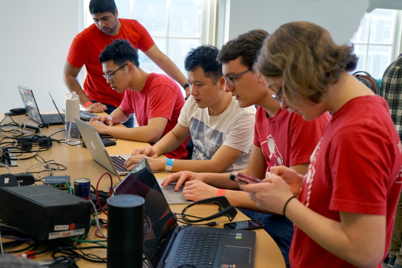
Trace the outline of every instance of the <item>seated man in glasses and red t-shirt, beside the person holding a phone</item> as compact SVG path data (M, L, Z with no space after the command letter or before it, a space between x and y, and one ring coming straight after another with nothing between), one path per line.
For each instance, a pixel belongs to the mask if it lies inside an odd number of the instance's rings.
M300 115L280 108L280 93L273 98L274 92L267 88L261 75L252 70L258 51L268 35L264 30L252 30L239 35L228 41L217 57L218 62L223 64L225 91L235 97L240 107L258 105L250 161L240 172L259 179L264 179L271 167L279 165L306 174L310 155L324 134L330 118L327 113L306 122ZM183 195L186 199L197 201L224 195L230 204L243 208L241 211L251 219L262 221L288 264L293 224L284 216L266 214L269 212L257 208L247 193L238 191L238 183L230 180L228 173L178 172L169 175L163 185L172 182L177 182L176 190L185 183ZM299 189L296 191L299 192Z

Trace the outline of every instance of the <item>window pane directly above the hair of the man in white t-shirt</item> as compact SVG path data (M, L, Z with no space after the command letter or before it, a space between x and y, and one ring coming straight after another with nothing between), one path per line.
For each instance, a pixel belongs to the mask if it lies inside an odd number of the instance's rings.
M200 39L169 39L168 57L176 64L185 77L187 77L187 72L184 70L184 58L191 48L196 48L200 45Z

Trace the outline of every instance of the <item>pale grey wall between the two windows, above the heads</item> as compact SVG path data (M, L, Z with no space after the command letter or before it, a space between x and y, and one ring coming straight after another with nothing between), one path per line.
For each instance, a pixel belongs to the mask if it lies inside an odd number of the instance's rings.
M229 39L251 29L261 28L272 33L283 23L310 21L327 29L339 44L353 37L369 7L369 0L253 0L248 1L248 4L244 4L244 0L226 2L230 2Z

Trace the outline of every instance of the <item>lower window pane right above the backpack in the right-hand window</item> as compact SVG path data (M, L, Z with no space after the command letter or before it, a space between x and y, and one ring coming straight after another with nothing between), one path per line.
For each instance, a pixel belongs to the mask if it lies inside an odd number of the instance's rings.
M390 64L391 50L392 47L388 45L369 45L366 70L375 79L381 79Z

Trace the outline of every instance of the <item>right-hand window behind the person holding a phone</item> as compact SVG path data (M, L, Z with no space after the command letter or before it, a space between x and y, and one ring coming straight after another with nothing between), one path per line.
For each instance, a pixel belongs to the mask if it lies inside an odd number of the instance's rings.
M401 11L374 9L366 13L351 39L359 57L356 71L366 71L381 79L385 69L399 54Z

